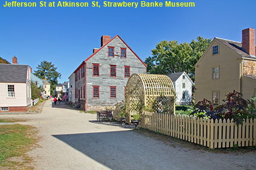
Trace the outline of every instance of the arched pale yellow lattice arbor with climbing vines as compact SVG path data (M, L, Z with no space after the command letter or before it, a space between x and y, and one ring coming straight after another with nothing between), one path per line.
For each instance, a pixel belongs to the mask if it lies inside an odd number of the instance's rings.
M175 91L172 80L161 74L133 74L125 89L126 121L143 112L173 114Z

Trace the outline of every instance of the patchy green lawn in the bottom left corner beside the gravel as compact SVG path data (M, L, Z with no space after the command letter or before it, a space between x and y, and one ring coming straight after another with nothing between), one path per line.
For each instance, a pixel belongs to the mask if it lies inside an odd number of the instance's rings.
M0 125L0 169L1 167L33 169L33 167L26 166L26 163L30 163L32 159L25 153L33 144L36 144L35 134L36 129L32 126ZM11 157L19 157L19 161L11 160Z

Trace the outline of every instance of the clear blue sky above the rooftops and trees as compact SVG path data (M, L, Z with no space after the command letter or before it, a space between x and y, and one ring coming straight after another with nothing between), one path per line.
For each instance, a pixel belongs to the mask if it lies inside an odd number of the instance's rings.
M68 80L93 48L100 47L102 35L120 35L145 61L162 40L184 43L200 35L241 41L242 29L256 29L254 0L172 1L195 2L196 7L190 8L39 7L37 0L17 2L37 2L37 7L3 7L5 1L0 2L0 56L11 62L15 55L19 64L33 70L41 61L52 62L62 74L60 83Z

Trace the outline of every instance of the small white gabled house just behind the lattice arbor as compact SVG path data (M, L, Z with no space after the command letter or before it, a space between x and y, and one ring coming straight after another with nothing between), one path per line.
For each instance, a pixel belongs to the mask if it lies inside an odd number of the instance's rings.
M190 105L192 102L193 82L185 71L179 73L167 74L172 80L177 105Z

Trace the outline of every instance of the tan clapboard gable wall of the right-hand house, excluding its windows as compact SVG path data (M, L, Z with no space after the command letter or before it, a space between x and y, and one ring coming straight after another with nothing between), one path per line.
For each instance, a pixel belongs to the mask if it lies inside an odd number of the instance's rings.
M219 45L219 54L213 55L213 46ZM220 100L233 90L240 91L241 57L214 39L195 66L196 102L212 99L212 91L219 91ZM219 79L213 79L213 67L219 67Z

